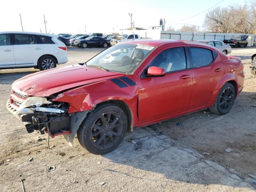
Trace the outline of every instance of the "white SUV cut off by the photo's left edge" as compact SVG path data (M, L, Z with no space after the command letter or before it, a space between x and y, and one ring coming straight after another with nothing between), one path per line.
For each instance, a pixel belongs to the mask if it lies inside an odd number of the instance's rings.
M68 62L67 47L53 34L0 32L0 69L55 68Z

